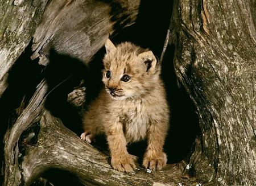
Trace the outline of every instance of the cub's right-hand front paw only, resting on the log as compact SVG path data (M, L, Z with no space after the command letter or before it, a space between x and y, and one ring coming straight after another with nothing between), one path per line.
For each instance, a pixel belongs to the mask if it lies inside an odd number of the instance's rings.
M167 155L163 152L147 151L143 159L143 167L152 171L161 170L167 163Z

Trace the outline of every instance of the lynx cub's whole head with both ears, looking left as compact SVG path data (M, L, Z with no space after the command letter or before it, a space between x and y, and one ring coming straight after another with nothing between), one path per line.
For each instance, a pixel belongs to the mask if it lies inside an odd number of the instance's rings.
M156 59L151 51L139 53L141 48L131 43L117 47L108 39L105 44L102 81L106 92L114 100L138 98L154 86Z

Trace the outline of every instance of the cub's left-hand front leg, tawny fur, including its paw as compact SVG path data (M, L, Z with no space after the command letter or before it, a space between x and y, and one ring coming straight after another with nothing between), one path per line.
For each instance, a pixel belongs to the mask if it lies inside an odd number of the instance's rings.
M111 154L111 164L115 170L133 172L136 168L135 158L127 152L126 139L122 123L114 122L106 126L106 136Z

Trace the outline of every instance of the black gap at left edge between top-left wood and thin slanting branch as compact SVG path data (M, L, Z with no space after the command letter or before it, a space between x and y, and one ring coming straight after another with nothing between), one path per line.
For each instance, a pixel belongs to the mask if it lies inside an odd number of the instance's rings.
M7 129L15 123L22 109L26 108L28 101L36 90L36 85L42 80L40 72L43 67L38 64L38 60L32 61L30 59L32 55L31 46L32 40L11 67L7 77L8 87L0 98L0 167L2 167L2 161L4 160L3 137ZM20 109L17 110L18 108ZM2 180L0 178L0 185L2 185Z

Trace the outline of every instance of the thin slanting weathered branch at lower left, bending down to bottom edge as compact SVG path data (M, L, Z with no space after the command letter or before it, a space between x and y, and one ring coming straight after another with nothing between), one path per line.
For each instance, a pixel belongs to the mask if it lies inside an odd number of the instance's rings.
M5 183L4 185L23 185L22 169L19 165L19 138L42 114L46 98L46 81L40 82L31 98L30 104L22 111L13 127L5 134Z

